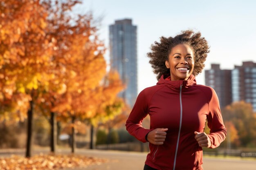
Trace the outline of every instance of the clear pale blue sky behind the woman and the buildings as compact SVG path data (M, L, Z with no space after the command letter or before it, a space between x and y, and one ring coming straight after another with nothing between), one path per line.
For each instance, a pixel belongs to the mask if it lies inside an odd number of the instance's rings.
M108 26L115 20L132 19L137 26L138 93L157 83L146 53L161 36L175 36L182 30L202 33L210 45L204 70L211 64L233 69L243 61L256 62L255 0L83 0L76 12L92 11L103 18L99 34L109 47ZM109 63L109 51L105 58ZM205 84L204 71L196 77Z

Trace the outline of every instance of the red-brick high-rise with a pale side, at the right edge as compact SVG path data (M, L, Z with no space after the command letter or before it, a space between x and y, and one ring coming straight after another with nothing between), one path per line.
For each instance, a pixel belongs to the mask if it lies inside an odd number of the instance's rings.
M251 103L256 111L256 63L243 62L232 70L232 102Z

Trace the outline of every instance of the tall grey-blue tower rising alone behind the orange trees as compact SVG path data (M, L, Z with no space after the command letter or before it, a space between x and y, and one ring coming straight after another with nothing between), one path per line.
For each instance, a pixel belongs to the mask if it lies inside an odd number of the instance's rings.
M137 26L116 20L109 26L110 69L117 70L126 89L119 94L132 107L137 98Z

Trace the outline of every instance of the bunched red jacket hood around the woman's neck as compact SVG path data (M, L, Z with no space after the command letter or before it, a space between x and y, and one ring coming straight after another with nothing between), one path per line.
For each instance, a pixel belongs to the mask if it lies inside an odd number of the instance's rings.
M195 76L190 75L189 79L187 80L175 80L171 81L171 76L168 74L163 74L157 84L166 84L166 86L170 87L173 90L180 90L180 86L182 85L182 88L189 88L196 84Z

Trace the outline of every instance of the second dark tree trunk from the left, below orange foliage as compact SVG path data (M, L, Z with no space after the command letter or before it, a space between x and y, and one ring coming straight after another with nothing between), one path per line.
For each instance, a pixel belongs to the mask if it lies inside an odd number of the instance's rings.
M51 112L51 152L55 153L56 150L56 137L57 137L57 124L56 124L56 115L54 112Z

